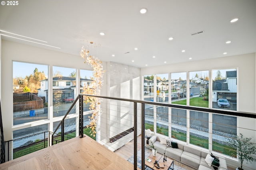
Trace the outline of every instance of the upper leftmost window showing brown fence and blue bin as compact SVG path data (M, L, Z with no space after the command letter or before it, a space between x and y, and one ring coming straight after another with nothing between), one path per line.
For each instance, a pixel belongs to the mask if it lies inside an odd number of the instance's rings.
M13 125L47 119L48 66L13 62ZM39 90L38 90L39 89Z

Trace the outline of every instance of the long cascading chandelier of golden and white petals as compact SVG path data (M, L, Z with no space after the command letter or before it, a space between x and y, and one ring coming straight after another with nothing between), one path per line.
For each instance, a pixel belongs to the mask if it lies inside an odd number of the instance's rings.
M102 62L94 56L93 57L91 55L89 56L89 53L90 51L88 49L84 49L84 46L83 46L80 51L80 55L82 58L84 58L85 60L84 63L88 63L93 68L93 72L92 72L93 77L90 77L90 79L93 80L91 85L92 87L89 87L88 85L85 86L83 89L84 91L83 93L100 96L100 89L103 85L103 75L105 70L103 70ZM89 116L90 123L89 125L87 125L87 127L90 127L91 129L90 133L93 137L95 137L96 123L101 113L100 103L102 102L102 99L86 96L84 101L86 103L91 102L89 109L93 110L93 113L92 113L92 116Z

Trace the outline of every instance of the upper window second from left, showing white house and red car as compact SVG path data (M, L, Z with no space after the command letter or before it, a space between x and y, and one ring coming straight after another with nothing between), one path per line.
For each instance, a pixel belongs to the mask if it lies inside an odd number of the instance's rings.
M52 70L53 117L58 117L66 114L76 97L76 70L57 66L53 66ZM70 82L69 86L67 82Z

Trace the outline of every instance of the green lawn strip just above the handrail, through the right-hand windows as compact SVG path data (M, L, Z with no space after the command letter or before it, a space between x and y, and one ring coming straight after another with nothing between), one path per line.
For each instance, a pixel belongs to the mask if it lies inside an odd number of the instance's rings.
M209 107L208 101L204 100L204 97L190 98L189 102L190 102L190 106ZM172 102L172 104L186 105L187 100L185 99L185 100Z

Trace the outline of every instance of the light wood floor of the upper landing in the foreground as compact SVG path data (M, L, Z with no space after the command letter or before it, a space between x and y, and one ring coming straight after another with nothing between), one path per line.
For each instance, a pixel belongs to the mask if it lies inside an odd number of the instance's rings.
M0 170L133 170L133 164L90 137L75 137L0 164Z

